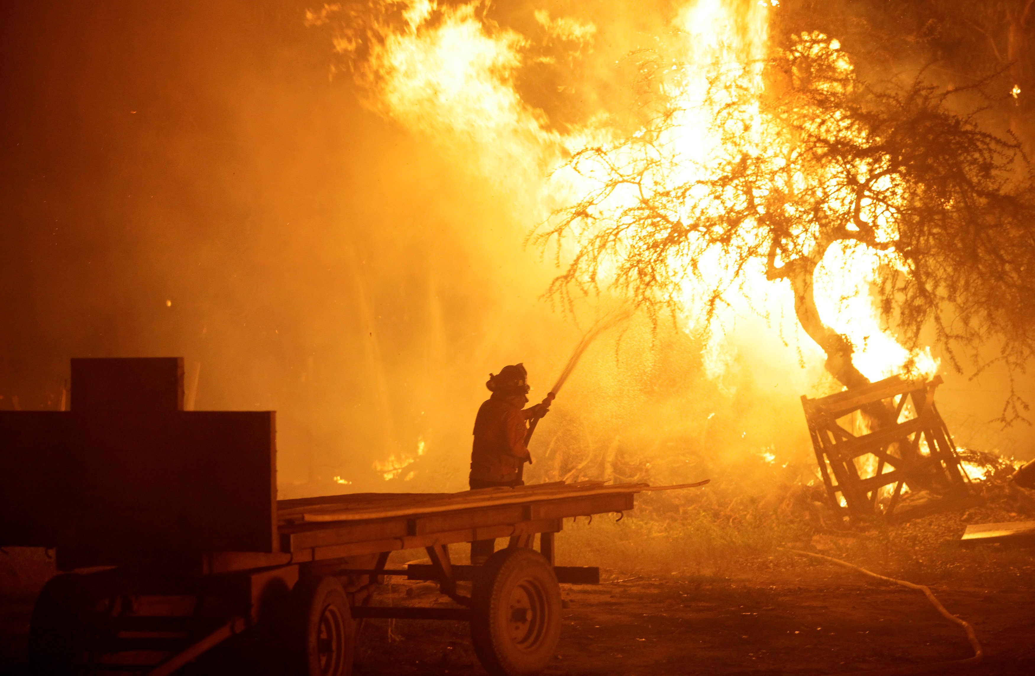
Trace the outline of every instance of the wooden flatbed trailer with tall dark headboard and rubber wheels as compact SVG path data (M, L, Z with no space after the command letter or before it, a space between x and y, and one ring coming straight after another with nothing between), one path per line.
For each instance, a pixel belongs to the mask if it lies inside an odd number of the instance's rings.
M652 490L276 500L273 434L271 412L183 411L179 359L73 359L71 411L0 412L0 545L53 547L63 571L33 611L34 673L165 676L244 635L267 671L341 676L364 618L411 618L470 622L490 673L535 674L557 645L558 585L599 581L555 565L563 520ZM451 546L489 538L506 547L454 562ZM416 548L430 563L387 567ZM386 576L437 582L454 604L372 606Z

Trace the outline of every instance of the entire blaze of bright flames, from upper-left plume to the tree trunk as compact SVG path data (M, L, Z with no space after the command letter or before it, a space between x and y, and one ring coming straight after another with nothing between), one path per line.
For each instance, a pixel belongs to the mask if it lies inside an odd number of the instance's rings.
M730 124L739 129L740 149L747 147L777 161L781 140L772 137L775 125L764 119L759 105L765 87L761 64L769 50L769 8L777 4L778 0L697 0L687 2L677 13L671 27L678 35L676 54L656 93L676 113L662 136L652 139L649 151L664 156L654 165L660 169L644 180L655 186L678 185L713 172L730 152L726 139L731 127L714 123L719 108L735 110L732 116L726 114ZM613 149L601 155L601 163L632 168L642 159L638 153L647 152L635 144L620 143L621 133L607 126L602 118L563 130L552 127L545 113L526 102L515 84L522 68L536 58L529 38L487 19L480 2L444 5L434 0L368 0L365 6L356 7L328 4L309 12L307 21L331 26L335 50L346 57L363 86L367 105L443 148L463 144L477 149L479 171L501 183L520 183L529 198L525 204L538 209L527 214L529 223L542 221L552 208L578 201L609 169L601 165L595 173L592 166L584 165L579 172L571 168L558 171L565 153L592 142ZM535 19L550 39L572 52L592 48L597 32L592 24L551 18L544 10L536 11ZM819 34L803 40L807 49L822 51L833 67L852 68L836 40ZM647 131L641 129L633 136ZM792 180L804 179L796 176ZM620 209L638 199L637 188L628 185L625 190L611 193L601 208ZM834 195L833 199L839 198ZM701 208L707 211L709 207L697 208L700 213ZM880 213L869 216L878 229L890 228ZM757 244L744 241L737 245ZM704 251L696 264L721 277L729 273L731 261L722 251L713 248ZM720 375L730 362L729 352L735 344L732 332L738 323L748 321L745 318L782 318L753 324L753 330L768 331L764 336L755 334L755 341L786 344L786 337L800 335L789 285L768 282L764 262L752 265L756 268L743 277L746 281L739 293L727 298L729 304L715 318L720 330L712 332L705 355L713 375ZM878 265L903 269L892 253L841 244L827 249L816 274L816 300L822 318L848 336L855 348L855 364L866 377L879 379L903 370L933 375L938 363L929 350L911 352L882 327L869 293ZM699 293L692 283L686 283L682 302L687 329L693 328L692 318L699 316ZM788 324L794 330L788 330ZM799 355L796 361L822 362L818 346L808 340L792 340L798 343L794 346ZM393 457L379 463L377 469L389 479L400 476L412 462L412 455Z

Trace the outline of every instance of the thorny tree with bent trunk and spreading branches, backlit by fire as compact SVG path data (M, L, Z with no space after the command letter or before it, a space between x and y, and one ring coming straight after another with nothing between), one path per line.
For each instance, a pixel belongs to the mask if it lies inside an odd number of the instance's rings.
M983 130L980 111L950 108L976 88L868 84L839 47L800 34L759 58L719 50L707 68L641 54L645 123L571 154L562 172L581 198L534 235L564 261L551 292L570 301L607 287L708 327L760 280L787 281L827 371L856 387L869 382L860 339L817 304L825 265L858 272L840 293L864 287L909 352L906 371L923 371L928 327L957 370L960 354L1023 370L1035 348L1035 192L1019 145ZM989 343L999 355L982 360ZM1024 408L1011 395L1004 419Z

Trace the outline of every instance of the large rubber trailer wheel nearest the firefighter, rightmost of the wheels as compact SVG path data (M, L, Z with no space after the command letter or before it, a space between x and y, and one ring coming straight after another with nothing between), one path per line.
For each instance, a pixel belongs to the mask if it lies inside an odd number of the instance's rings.
M491 556L472 611L471 641L489 673L531 676L546 667L561 633L561 590L541 554L509 548Z

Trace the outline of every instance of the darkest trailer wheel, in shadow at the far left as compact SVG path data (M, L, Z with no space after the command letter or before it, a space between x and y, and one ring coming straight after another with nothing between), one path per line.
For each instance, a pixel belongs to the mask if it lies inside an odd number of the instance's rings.
M78 673L87 657L87 627L77 601L82 576L61 575L39 592L29 625L29 670L37 676Z

